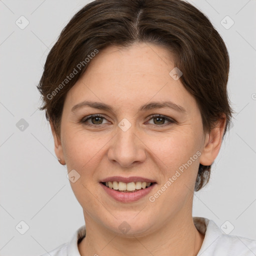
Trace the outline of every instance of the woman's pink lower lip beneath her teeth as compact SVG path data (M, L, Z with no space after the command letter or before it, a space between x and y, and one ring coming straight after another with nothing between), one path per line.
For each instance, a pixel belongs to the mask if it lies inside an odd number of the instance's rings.
M108 195L110 195L112 198L114 198L117 201L120 202L134 202L142 198L143 196L147 195L155 186L156 183L153 183L152 185L141 188L140 190L137 190L135 192L119 192L118 190L114 190L113 188L109 188L102 183L99 183L102 188L106 191Z

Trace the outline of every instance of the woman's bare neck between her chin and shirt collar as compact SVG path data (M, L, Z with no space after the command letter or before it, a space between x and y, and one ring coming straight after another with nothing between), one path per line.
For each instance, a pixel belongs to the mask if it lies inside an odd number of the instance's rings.
M81 256L89 255L187 255L196 256L204 235L195 228L192 216L176 216L146 235L123 237L86 219L86 236L79 243Z

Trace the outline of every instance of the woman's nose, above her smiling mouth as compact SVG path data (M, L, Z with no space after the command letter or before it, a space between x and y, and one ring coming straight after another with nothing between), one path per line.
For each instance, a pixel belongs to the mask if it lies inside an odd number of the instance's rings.
M118 163L121 167L131 167L146 159L146 146L134 126L131 125L126 131L117 127L117 134L111 139L108 150L109 161Z

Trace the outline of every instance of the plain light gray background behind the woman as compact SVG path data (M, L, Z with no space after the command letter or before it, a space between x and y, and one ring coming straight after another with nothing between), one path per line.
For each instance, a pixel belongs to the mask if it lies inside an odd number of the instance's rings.
M50 126L37 109L35 85L61 29L87 2L0 0L0 255L42 254L84 224L66 167L54 154ZM236 111L208 185L194 194L193 216L256 239L256 1L189 2L210 18L228 47L228 91ZM29 21L24 29L15 23L21 15ZM228 29L227 15L234 21ZM21 118L28 123L23 131L16 126ZM29 226L24 234L15 228L21 220Z

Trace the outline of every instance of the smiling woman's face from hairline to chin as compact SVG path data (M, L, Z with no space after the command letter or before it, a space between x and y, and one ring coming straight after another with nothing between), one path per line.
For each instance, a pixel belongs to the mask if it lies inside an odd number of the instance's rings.
M86 225L142 234L191 217L207 136L195 99L169 74L171 60L152 44L109 46L68 91L55 151L72 170L70 184ZM101 183L106 181L125 181L112 184L120 190L152 185L121 192Z

